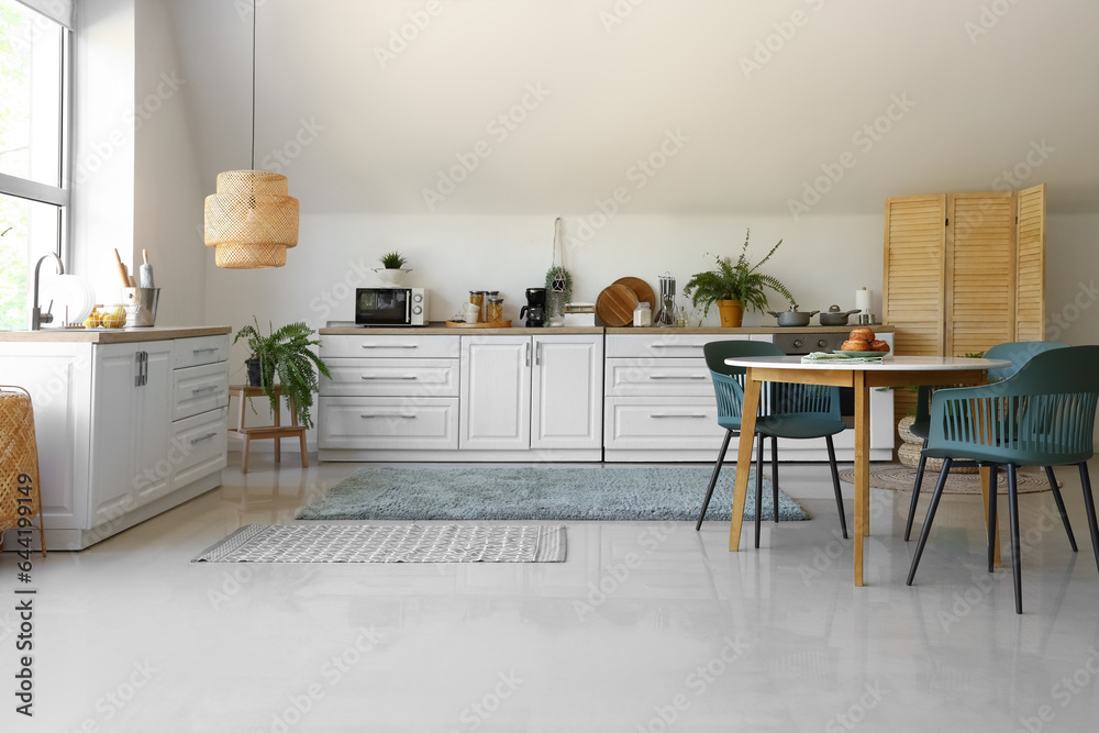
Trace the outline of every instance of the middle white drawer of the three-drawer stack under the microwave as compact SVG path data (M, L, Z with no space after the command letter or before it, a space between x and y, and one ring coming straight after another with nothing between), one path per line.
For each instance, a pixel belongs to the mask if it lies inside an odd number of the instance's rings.
M347 359L326 362L325 397L457 397L458 359Z

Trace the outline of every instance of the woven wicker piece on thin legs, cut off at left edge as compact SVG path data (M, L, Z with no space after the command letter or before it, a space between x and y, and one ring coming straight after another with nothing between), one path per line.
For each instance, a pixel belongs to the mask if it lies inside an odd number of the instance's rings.
M42 542L42 554L45 555L38 448L34 440L31 395L22 387L0 386L0 533L19 527L20 499L30 499L30 502L22 502L29 508L23 515L27 520L33 520L35 515L38 518L38 538Z

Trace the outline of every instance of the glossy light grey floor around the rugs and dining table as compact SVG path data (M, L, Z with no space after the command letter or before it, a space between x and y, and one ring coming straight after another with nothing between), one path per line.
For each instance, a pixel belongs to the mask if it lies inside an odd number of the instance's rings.
M900 538L909 495L873 491L867 586L854 588L822 465L784 466L784 489L815 519L765 524L759 551L750 525L746 549L732 554L725 522L700 533L693 523L607 522L569 524L559 565L191 564L243 524L292 521L356 468L302 471L290 458L276 471L257 455L247 476L231 465L222 488L184 507L82 553L36 558L35 718L13 712L18 622L4 601L0 728L1099 725L1099 577L1068 469L1080 553L1051 521L1050 493L1022 497L1018 617L1009 563L985 573L974 498L944 500L909 588L914 542ZM9 553L4 587L15 571Z

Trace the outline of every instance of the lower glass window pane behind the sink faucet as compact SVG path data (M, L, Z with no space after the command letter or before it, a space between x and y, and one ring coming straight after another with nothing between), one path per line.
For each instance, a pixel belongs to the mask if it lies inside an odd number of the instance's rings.
M0 330L30 323L31 273L38 257L57 249L57 207L0 193ZM47 264L42 266L44 277L54 271Z

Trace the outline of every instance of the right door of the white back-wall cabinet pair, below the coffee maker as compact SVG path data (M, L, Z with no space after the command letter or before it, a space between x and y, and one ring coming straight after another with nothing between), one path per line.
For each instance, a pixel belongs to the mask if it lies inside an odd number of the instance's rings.
M534 336L531 447L602 446L601 336Z

